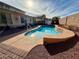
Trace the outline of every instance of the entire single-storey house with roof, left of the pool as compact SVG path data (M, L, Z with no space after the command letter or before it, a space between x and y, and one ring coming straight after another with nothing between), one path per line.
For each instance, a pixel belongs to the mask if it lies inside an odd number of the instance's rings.
M25 12L12 7L8 4L0 2L0 13L5 13L6 19L1 19L0 15L0 26L10 26L10 27L19 27L19 26L26 26L27 24L33 24L36 21L44 21L40 17L32 17L25 15ZM2 22L6 22L3 23Z

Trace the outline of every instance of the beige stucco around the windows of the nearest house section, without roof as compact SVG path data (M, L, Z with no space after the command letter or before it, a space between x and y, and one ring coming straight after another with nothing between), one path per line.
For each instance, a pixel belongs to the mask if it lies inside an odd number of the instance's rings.
M25 25L25 23L21 23L21 18L20 16L22 16L21 13L17 13L17 12L12 12L12 11L8 11L8 10L4 10L4 9L0 9L0 12L4 12L6 15L6 20L7 20L7 24L0 24L0 26L10 26L10 27L18 27L18 26L22 26ZM10 20L8 20L8 13L11 15L11 19L12 23L10 23ZM17 17L17 20L16 20Z

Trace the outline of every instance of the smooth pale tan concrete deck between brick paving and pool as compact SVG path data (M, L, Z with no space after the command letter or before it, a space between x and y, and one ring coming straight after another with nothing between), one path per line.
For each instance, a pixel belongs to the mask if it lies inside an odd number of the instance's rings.
M38 27L36 27L34 29L37 29L39 27L40 26L38 26ZM5 40L5 41L3 41L1 43L6 44L6 45L11 45L11 46L14 46L16 48L19 48L19 49L22 49L22 50L25 50L25 51L28 51L28 52L34 46L39 45L39 44L43 44L43 39L39 39L38 40L35 37L29 38L29 37L25 36L24 34L26 32L28 32L28 31L27 30L24 30L21 34L19 34L17 36L14 36L14 37L11 37L11 38L8 38L7 40ZM62 37L63 36L64 35L62 35ZM7 38L7 37L4 37L4 38Z

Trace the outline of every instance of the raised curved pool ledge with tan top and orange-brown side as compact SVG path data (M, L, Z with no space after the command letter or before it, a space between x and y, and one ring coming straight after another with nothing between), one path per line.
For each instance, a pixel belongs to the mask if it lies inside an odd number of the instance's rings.
M58 43L75 37L75 33L73 31L59 27L58 25L56 25L56 27L60 29L62 33L58 35L46 35L44 36L44 41L48 43Z

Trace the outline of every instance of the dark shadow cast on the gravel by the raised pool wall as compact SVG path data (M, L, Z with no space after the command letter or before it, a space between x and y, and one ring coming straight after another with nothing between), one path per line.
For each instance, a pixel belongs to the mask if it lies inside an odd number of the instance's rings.
M50 55L55 55L73 48L78 41L79 41L79 37L75 36L74 38L69 39L65 42L61 42L57 44L48 44L44 46Z

